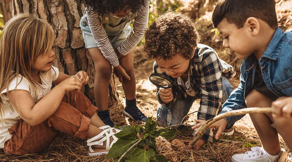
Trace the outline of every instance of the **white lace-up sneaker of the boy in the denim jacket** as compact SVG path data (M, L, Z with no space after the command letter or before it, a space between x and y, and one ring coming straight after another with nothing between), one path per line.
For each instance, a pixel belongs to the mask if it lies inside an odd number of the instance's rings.
M279 157L278 157L279 156ZM251 151L244 154L235 154L232 156L232 162L274 162L278 158L278 162L287 162L287 153L281 148L278 155L269 155L262 147L252 147Z

